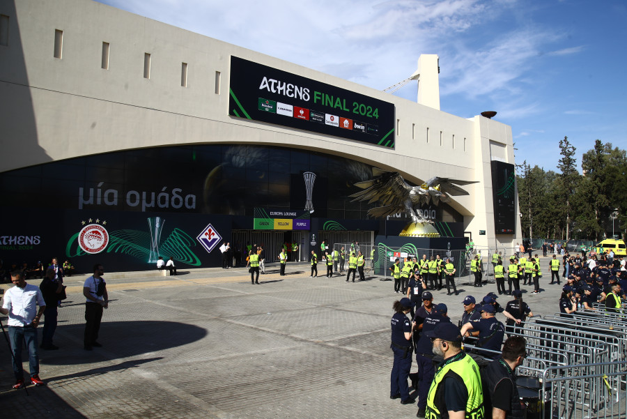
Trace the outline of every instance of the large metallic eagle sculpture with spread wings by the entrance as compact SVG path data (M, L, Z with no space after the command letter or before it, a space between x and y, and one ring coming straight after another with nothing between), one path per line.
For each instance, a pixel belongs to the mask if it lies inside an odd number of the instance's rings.
M370 181L355 183L363 190L350 195L353 201L368 201L369 204L379 201L383 206L370 208L368 215L374 218L387 217L396 213L407 212L413 222L433 222L422 217L415 211L415 206L438 205L440 201L448 202L450 195L470 195L457 185L470 185L477 181L459 181L451 178L433 177L420 186L410 186L398 172L372 168L374 178Z

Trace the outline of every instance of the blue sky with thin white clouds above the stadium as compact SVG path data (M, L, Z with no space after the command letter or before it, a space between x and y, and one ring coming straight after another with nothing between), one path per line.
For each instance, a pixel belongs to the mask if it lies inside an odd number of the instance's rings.
M378 90L438 54L440 108L497 111L518 164L555 170L564 135L578 165L595 139L627 148L625 0L100 1Z

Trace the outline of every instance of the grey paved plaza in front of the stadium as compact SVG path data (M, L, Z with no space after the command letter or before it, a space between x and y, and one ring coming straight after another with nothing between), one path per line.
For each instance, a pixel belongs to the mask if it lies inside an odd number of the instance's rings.
M543 258L543 269L547 265ZM389 320L400 297L394 282L310 278L309 268L288 264L281 277L278 264L271 265L259 285L251 285L245 268L176 277L107 272L103 347L91 352L82 343L87 275L67 277L68 300L54 337L61 349L40 350L46 387L29 386L28 395L10 388L10 353L1 338L0 417L415 418L415 404L389 399ZM546 291L538 296L523 287L535 314L559 311L562 287L547 283L545 275ZM434 293L454 323L463 296L479 300L496 285L477 289L462 280L458 291ZM6 317L0 318L6 328ZM497 318L504 321L502 314ZM24 360L27 372L26 352Z

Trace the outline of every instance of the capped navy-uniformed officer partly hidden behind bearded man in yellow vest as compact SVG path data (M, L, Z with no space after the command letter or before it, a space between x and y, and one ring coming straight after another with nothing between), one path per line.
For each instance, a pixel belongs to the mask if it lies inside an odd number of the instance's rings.
M446 304L438 304L435 310L425 317L422 323L422 333L416 344L416 361L418 363L418 411L424 412L426 409L426 395L435 375L433 366L433 342L427 336L429 332L435 329L435 326L444 322L451 323L451 319L447 316L448 308ZM424 414L424 413L423 413Z

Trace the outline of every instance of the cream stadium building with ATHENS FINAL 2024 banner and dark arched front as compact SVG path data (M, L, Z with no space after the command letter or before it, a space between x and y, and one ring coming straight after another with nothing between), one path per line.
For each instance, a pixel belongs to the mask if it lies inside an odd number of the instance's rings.
M513 247L511 127L442 112L439 65L419 57L412 102L93 1L2 1L0 259L130 271L218 266L223 241L269 260L385 243L405 215L348 197L373 167L478 182L421 208L440 237L419 247Z

